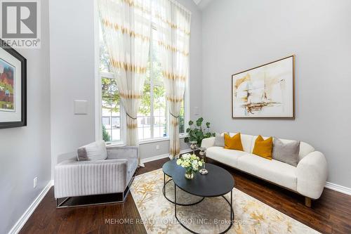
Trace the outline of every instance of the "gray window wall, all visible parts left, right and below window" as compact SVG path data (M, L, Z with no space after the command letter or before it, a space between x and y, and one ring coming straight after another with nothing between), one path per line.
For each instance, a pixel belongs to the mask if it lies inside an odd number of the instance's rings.
M190 106L198 107L201 115L201 12L193 1L179 2L192 11ZM50 1L52 167L58 155L95 141L93 13L93 0ZM88 100L88 115L73 115L75 99ZM193 108L191 119L199 117L194 115ZM159 150L156 145L160 146ZM168 145L168 141L140 145L140 157L163 155L168 152ZM188 148L183 143L181 146L182 150Z

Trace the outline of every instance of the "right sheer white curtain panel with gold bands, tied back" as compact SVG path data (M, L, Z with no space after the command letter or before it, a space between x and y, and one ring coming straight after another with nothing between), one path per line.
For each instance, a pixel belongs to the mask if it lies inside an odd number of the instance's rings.
M191 13L173 0L152 0L152 21L157 24L161 67L170 116L170 158L180 153L180 106L189 78Z

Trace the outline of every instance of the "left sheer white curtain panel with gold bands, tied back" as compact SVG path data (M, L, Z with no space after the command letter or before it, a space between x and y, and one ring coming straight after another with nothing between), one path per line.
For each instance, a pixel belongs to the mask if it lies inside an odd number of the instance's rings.
M102 34L127 115L126 144L138 145L137 115L150 51L151 0L98 2Z

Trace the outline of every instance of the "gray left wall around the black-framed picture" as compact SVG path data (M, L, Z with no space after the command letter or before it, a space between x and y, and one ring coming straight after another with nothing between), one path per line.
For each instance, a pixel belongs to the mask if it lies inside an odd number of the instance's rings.
M48 1L41 1L41 23L41 49L17 50L27 58L27 126L0 129L0 233L51 180Z

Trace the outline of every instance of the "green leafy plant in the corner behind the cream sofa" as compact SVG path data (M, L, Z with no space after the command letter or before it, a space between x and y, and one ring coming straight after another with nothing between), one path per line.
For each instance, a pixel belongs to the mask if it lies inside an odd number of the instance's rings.
M206 124L203 124L203 122L203 117L197 119L195 123L192 120L189 121L189 128L187 128L187 134L189 134L189 136L184 138L185 143L196 141L197 145L200 146L202 139L215 136L214 133L210 132L210 123L206 122Z

